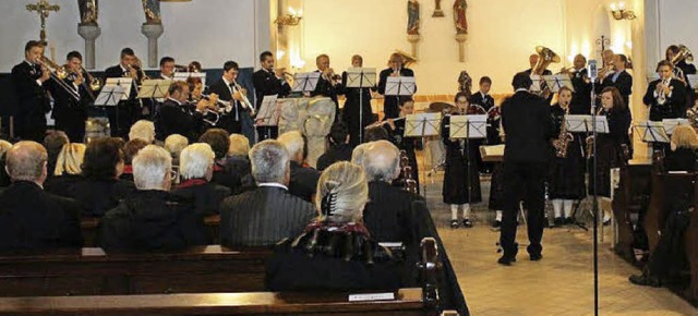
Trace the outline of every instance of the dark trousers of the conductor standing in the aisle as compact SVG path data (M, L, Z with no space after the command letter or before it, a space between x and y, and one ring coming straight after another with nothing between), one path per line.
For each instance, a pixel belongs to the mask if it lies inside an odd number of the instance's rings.
M516 215L519 202L527 205L529 254L540 254L543 250L543 221L545 208L544 181L547 170L545 162L513 162L504 161L504 209L502 214L502 230L500 244L505 256L515 256L516 248Z

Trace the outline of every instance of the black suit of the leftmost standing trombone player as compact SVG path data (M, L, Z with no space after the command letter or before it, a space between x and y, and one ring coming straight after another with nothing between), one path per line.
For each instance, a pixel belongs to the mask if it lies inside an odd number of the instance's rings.
M26 61L12 68L12 82L20 108L14 117L14 130L24 141L44 142L46 134L46 113L51 110L47 88L51 80L43 85L37 83L41 69Z

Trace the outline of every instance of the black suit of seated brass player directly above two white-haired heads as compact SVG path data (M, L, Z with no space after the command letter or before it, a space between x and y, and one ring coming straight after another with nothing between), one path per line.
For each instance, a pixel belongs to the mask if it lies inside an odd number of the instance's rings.
M189 105L180 105L173 99L166 99L160 107L160 113L156 123L157 138L165 141L167 136L180 134L195 143L203 127L204 116L194 110L188 110Z

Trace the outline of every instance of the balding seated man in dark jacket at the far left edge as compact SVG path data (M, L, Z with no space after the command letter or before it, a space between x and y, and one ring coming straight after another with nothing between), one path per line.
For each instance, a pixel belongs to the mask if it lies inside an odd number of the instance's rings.
M12 184L0 192L0 250L82 246L76 204L43 190L47 161L35 142L20 142L7 153Z

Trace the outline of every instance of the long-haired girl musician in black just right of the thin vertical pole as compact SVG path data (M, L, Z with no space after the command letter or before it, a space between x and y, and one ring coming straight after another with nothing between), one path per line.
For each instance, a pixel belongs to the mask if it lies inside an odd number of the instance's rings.
M630 110L624 104L623 96L616 87L605 87L601 92L601 108L598 116L605 116L609 121L609 133L597 134L597 195L611 196L611 169L621 166L623 145L630 145L628 129L630 127ZM593 155L593 154L592 154ZM589 159L591 162L592 160ZM592 170L591 168L589 170ZM593 170L592 170L593 171ZM591 172L591 171L590 171ZM589 194L593 194L593 178L590 177ZM611 222L610 212L604 210L604 224Z

